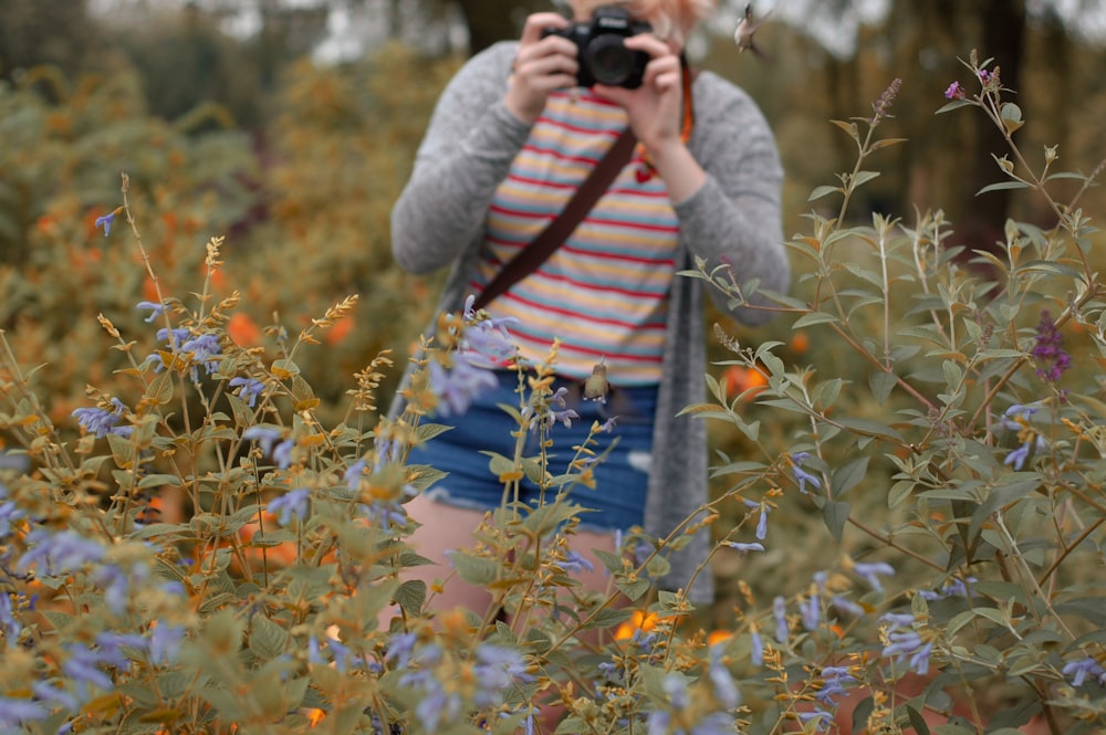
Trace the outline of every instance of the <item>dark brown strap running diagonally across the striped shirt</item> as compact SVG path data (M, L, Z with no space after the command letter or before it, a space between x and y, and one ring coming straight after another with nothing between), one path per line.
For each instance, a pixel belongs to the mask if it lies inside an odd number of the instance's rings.
M495 277L491 280L484 290L477 295L472 307L483 308L493 298L501 296L508 288L521 281L529 273L533 273L538 267L549 260L562 242L568 239L572 231L576 229L580 221L587 217L592 207L598 201L603 192L607 190L611 182L617 178L623 167L629 162L637 145L637 137L628 127L606 155L595 165L592 172L587 175L584 182L576 189L568 203L565 204L561 213L523 248L518 255L500 269Z

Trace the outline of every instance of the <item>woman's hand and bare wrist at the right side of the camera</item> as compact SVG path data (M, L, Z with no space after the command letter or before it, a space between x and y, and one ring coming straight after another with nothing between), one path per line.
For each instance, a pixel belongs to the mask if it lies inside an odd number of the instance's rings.
M684 127L684 70L680 57L655 35L626 39L626 48L651 57L641 86L626 90L597 84L593 91L626 109L634 135L645 146L649 161L678 203L702 186L707 174L680 138Z

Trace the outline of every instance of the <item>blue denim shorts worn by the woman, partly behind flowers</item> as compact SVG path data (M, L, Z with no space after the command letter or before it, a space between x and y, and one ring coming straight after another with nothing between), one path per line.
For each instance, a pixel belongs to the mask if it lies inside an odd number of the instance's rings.
M501 403L519 407L519 377L513 371L498 371L499 385L479 395L463 416L432 417L437 423L452 427L411 451L411 464L427 464L449 475L426 491L429 498L447 504L488 511L503 502L503 484L489 469L489 456L495 452L514 458L518 422L501 408ZM580 414L571 427L554 423L547 430L552 445L546 448L546 471L557 476L568 471L576 456L574 447L587 439L595 421L611 427L593 437L591 450L603 454L614 438L618 442L593 469L595 487L576 483L567 489L567 497L588 511L581 513L581 527L588 531L628 529L641 525L645 515L645 493L649 480L653 452L653 424L657 408L657 387L626 387L614 390L606 403L578 398L582 381L556 380L570 388L567 408ZM575 396L575 398L574 398ZM529 390L528 390L529 397ZM607 423L609 419L612 423ZM613 424L613 426L612 426ZM529 432L522 455L540 452L539 433ZM520 483L519 500L536 506L542 496L529 479ZM556 487L547 489L545 502L554 500ZM551 495L551 493L553 495ZM513 500L513 494L511 500Z

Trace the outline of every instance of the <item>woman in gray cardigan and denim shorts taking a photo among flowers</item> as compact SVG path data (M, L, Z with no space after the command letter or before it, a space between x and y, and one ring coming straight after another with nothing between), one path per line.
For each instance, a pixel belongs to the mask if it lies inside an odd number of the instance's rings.
M586 23L605 3L571 4L575 22ZM768 124L734 85L706 72L692 81L681 64L687 34L713 0L618 4L651 27L625 40L627 50L648 56L640 86L577 86L577 46L565 33L571 22L555 13L529 17L520 41L478 54L450 82L392 216L399 264L415 273L451 264L439 309L458 311L560 212L627 125L636 135L632 160L568 240L486 307L492 317L513 317L509 329L524 359L541 360L559 338L565 382L586 379L602 364L627 397L627 409L613 401L613 412L627 416L615 421L622 439L596 472L597 491L572 496L597 511L574 537L581 554L613 552L615 532L635 524L665 536L707 501L706 427L677 417L705 396L705 284L676 274L702 259L708 269L730 264L738 282L757 279L762 288L785 291L790 277L782 170ZM689 102L693 117L685 115ZM759 323L769 314L745 307L735 316ZM422 555L442 559L471 546L471 531L499 504L502 487L480 447L467 441L497 433L489 422L498 416L498 433L513 444L513 422L495 405L504 395L517 402L515 382L504 371L498 390L444 421L456 429L415 460L450 472L407 506L422 524L413 537ZM586 434L591 418L552 434ZM563 449L583 434L565 437ZM670 558L661 584L686 588L709 544L709 534L698 533ZM602 565L595 568L585 585L601 584ZM420 569L427 578L442 576L440 568ZM482 595L462 588L440 601L482 609ZM698 576L690 595L712 597L709 574Z

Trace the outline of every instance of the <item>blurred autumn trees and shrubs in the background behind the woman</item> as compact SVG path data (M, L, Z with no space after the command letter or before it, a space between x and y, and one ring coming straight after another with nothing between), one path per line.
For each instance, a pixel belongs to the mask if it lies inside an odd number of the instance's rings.
M38 368L32 379L54 420L67 423L87 405L87 384L127 402L140 395L113 377L126 356L109 349L96 316L144 357L157 325L135 304L153 300L156 285L195 307L189 294L205 288L211 237L226 238L226 266L206 287L216 298L241 293L227 328L243 346L278 355L282 332L294 337L332 304L361 296L324 345L296 355L321 418L342 420L353 374L387 348L401 366L434 309L441 274L415 277L393 264L388 214L438 93L467 56L517 38L529 12L553 7L0 0L0 329L19 361ZM1031 166L1045 146L1057 147L1055 170L1089 172L1106 156L1106 0L775 0L753 8L761 54L732 41L744 9L719 0L689 52L748 90L773 125L787 237L808 229L812 207L837 206L810 202L810 192L853 169L855 145L830 120L870 116L895 78L901 91L879 132L907 141L868 161L880 176L860 189L852 217L881 212L909 227L941 209L953 243L975 249L993 248L1008 217L1054 224L1021 192L975 195L1000 180L994 156L1008 153L980 114L933 114L951 82L978 90L958 61L973 50L1016 91ZM95 227L122 203L121 172L157 284L125 223L106 238ZM1064 179L1053 186L1061 200L1065 186L1075 190ZM1104 203L1100 189L1081 200L1091 214ZM785 342L800 364L837 365L833 345L780 322L738 336ZM747 387L734 368L717 372ZM712 431L740 453L739 437Z

